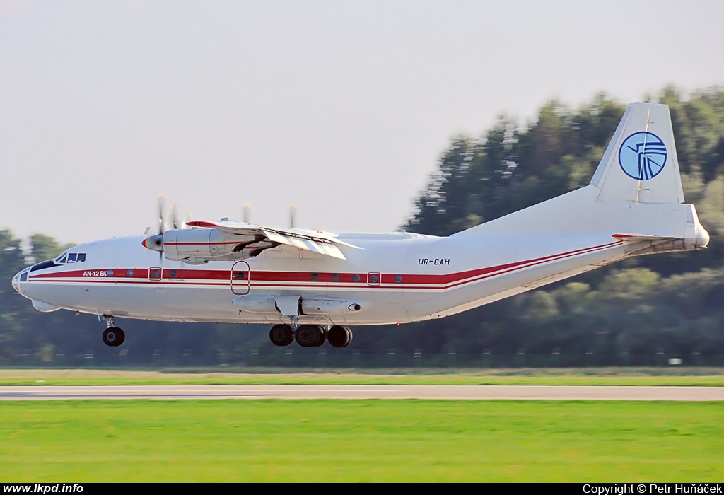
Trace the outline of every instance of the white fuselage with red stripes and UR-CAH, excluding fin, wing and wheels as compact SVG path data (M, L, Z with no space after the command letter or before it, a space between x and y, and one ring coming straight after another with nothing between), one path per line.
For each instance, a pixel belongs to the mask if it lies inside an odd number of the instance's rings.
M569 193L574 194L581 192ZM550 200L548 206L542 203L534 213L556 210L555 203L566 196ZM34 303L41 302L35 306L41 310L161 321L288 323L290 318L279 311L249 312L232 304L239 295L268 294L363 303L358 311L302 314L299 323L408 323L449 316L627 255L652 252L651 242L613 237L626 232L631 219L654 224L662 213L668 220L673 216L675 222L659 221L673 226L673 232L659 233L678 239L686 237L686 224L695 223L703 231L691 205L670 205L662 212L661 206L579 204L578 214L569 214L565 222L568 232L555 235L545 233L544 227L536 232L527 224L526 210L505 217L505 222L476 227L480 232L471 229L450 237L340 234L341 240L358 247L342 246L347 259L279 246L244 261L193 266L144 248L144 236L119 237L72 248L68 253L85 253L85 261L29 271L24 282L21 272L14 285ZM516 216L521 216L518 222ZM510 227L515 223L524 228ZM687 246L667 250L697 247L690 239Z

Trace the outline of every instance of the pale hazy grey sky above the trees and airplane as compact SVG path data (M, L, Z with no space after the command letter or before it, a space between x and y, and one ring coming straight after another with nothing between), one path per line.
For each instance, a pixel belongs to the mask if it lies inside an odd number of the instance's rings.
M724 84L724 2L0 0L0 229L394 230L460 132Z

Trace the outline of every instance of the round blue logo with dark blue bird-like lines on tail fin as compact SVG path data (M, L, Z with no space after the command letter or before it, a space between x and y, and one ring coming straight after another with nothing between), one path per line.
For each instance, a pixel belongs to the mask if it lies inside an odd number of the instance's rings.
M666 164L666 145L651 132L634 132L618 150L618 163L628 177L653 179Z

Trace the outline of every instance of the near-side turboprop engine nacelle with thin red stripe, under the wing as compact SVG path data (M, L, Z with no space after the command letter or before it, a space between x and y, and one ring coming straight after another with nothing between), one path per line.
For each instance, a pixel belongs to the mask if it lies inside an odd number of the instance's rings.
M263 235L233 234L222 229L172 229L146 238L143 245L164 253L170 261L197 264L252 258L276 245L274 242L261 242L263 240Z

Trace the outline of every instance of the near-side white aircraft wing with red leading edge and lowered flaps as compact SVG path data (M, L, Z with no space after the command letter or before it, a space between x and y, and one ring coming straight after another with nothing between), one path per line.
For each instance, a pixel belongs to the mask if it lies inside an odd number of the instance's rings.
M231 220L190 221L187 225L190 227L219 229L233 236L251 237L255 239L253 244L250 243L251 245L269 245L269 243L271 243L269 247L287 245L341 260L347 258L345 258L345 255L340 250L339 245L361 249L358 246L337 239L337 237L330 232L322 232L321 230L277 229Z

